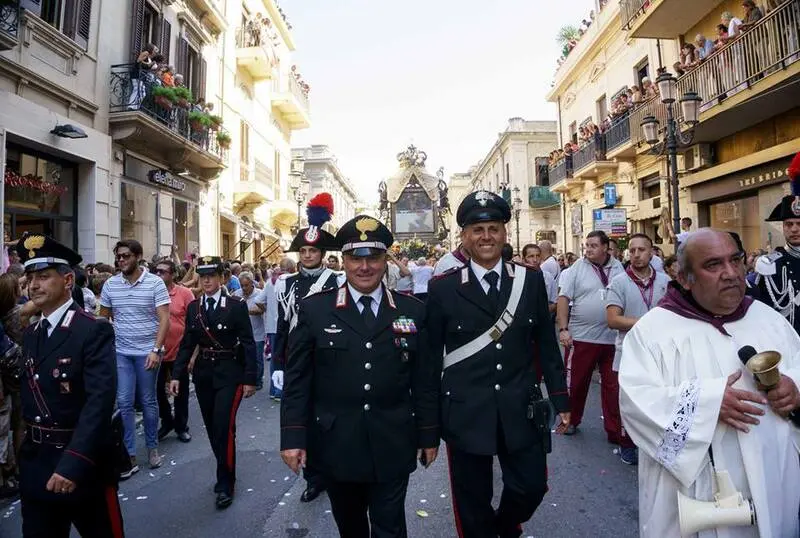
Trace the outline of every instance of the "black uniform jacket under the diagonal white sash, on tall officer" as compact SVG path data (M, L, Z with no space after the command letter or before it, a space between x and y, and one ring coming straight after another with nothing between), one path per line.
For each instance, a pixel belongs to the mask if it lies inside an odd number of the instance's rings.
M445 273L428 286L430 352L442 357L494 325L508 304L514 282L512 264L503 264L497 311L469 265ZM558 349L547 291L541 273L528 269L514 321L496 342L447 368L441 379L442 438L472 454L497 453L498 421L513 452L537 442L527 419L530 389L535 384L534 347L538 347L547 392L556 411L569 407L564 363ZM441 359L437 361L439 370Z

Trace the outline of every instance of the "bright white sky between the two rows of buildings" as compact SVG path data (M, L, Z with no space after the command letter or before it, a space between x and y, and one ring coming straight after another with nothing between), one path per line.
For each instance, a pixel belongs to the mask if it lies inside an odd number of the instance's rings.
M593 4L283 0L294 63L311 86L312 126L295 131L292 146L330 146L367 203L411 143L431 172L466 172L508 118L556 119L545 100L560 55L555 36Z

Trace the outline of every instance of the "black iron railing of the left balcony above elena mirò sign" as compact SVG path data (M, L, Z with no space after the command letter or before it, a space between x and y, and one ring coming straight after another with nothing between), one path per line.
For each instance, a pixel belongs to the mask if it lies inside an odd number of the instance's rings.
M111 66L111 83L109 86L111 114L120 112L141 112L160 123L165 130L191 142L199 149L220 159L227 159L227 148L223 147L217 134L227 133L222 126L209 128L193 124L189 113L193 110L177 105L165 107L153 96L153 90L162 87L158 77L149 70L136 64L118 64Z

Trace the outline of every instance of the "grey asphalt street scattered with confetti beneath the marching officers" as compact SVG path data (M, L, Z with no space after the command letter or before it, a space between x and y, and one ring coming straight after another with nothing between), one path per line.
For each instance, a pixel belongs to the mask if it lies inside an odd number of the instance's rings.
M579 433L554 438L550 491L524 526L524 537L637 535L636 468L620 463L606 442L598 389L593 383ZM194 397L190 410L193 441L182 444L171 435L161 444L162 468L143 468L120 484L128 538L338 536L325 495L300 503L305 483L280 459L279 404L265 391L244 400L239 411L236 500L223 512L214 508L213 459ZM138 445L144 461L141 435ZM499 499L499 467L495 476ZM443 450L431 468L411 476L406 513L411 537L456 536ZM20 529L19 503L0 502L0 537L18 538Z

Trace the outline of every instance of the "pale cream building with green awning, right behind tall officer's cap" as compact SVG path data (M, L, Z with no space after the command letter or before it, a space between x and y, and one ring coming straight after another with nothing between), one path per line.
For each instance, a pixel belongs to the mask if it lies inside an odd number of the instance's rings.
M509 119L492 148L470 172L469 192L496 192L512 205L508 239L515 250L532 241L555 242L561 235L561 199L550 191L547 166L547 155L558 143L556 127L553 121Z

